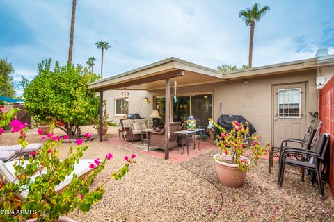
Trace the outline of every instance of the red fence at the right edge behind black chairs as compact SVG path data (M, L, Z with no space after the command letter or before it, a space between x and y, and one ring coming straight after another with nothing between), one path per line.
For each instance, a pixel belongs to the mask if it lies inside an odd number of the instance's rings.
M334 195L334 76L319 92L319 119L323 121L321 132L331 135L329 183Z

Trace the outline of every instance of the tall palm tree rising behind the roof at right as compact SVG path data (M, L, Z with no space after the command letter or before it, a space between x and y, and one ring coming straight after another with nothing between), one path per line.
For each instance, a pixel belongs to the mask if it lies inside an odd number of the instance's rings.
M259 10L259 4L255 3L252 8L246 8L246 10L241 10L239 12L239 17L241 17L246 26L250 26L250 38L249 38L249 63L248 66L252 67L252 56L253 56L253 38L254 38L254 28L255 22L260 21L262 15L266 14L270 10L269 6L264 6Z

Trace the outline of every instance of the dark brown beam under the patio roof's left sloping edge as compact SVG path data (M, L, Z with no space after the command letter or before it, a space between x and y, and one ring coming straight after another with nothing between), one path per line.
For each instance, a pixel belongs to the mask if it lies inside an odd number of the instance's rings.
M167 78L174 78L177 76L184 76L184 71L183 70L175 70L175 71L168 71L164 74L159 74L156 76L148 76L148 77L144 77L144 78L139 78L136 80L128 80L125 81L123 83L117 83L115 85L107 85L105 87L100 87L95 89L96 92L100 92L100 91L106 91L106 90L111 90L111 89L118 89L118 88L122 88L124 86L132 86L132 85L141 85L143 83L152 83L155 81L159 81L159 80L164 80Z

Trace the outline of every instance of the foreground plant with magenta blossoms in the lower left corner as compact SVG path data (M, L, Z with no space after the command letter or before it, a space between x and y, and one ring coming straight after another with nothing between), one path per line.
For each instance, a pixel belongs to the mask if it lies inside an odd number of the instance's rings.
M19 144L24 147L26 142L26 125L15 120L12 132L19 133ZM51 132L54 124L51 123ZM125 164L118 171L112 171L110 177L96 189L90 185L95 176L104 169L113 155L106 154L103 160L99 158L87 163L91 170L81 178L74 174L72 180L61 193L56 191L67 176L74 171L75 164L80 163L80 158L88 146L83 139L77 139L77 145L70 147L66 158L59 159L62 137L49 133L42 137L46 142L40 151L31 152L29 161L24 162L24 157L19 158L14 164L15 180L3 183L0 187L0 209L6 214L0 214L0 221L72 221L64 218L66 214L79 210L88 212L93 204L102 199L103 185L111 180L119 180L129 171L130 164L134 164L136 155L125 156ZM84 162L84 164L86 164ZM45 169L45 170L44 170ZM32 179L33 176L33 179ZM16 194L25 193L24 198L17 198Z

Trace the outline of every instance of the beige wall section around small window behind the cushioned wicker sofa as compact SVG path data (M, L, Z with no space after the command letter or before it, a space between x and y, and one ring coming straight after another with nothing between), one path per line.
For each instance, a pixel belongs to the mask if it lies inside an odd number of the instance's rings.
M147 118L152 111L152 93L142 90L128 90L127 92L129 92L129 113L139 113L141 117ZM148 96L149 102L144 101L145 96ZM115 99L122 99L122 97L122 91L120 90L108 90L103 93L109 119L113 119L116 123L119 123L122 115L115 114Z

